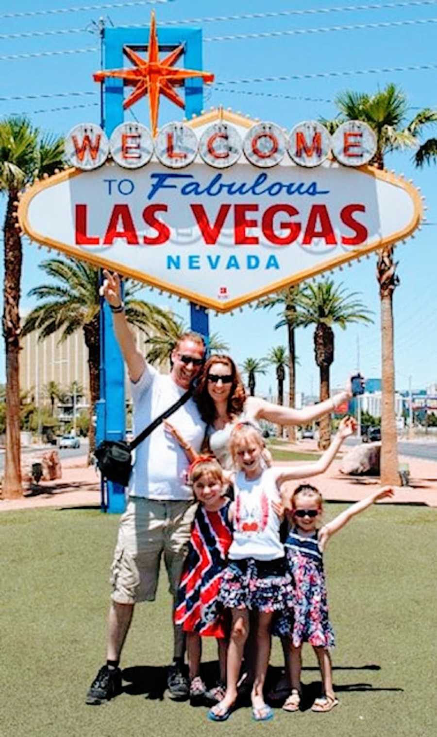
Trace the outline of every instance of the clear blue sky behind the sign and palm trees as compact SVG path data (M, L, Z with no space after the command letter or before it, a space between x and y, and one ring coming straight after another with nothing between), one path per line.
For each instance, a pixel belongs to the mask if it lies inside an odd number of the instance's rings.
M112 7L102 7L104 3L98 0L84 1L83 6L100 7L71 12L69 8L82 6L81 0L75 0L74 4L69 4L68 0L41 0L38 4L35 0L14 4L0 0L0 98L7 98L0 99L1 116L26 112L35 125L59 134L67 133L77 122L99 122L98 88L92 80L93 71L99 69L99 51L84 50L98 49L99 39L95 33L85 29L93 29L101 16L109 25L146 25L153 7L158 25L191 18L227 18L193 22L194 27L203 29L203 68L213 71L217 82L227 82L207 90L205 108L221 104L254 118L272 120L291 128L300 120L335 116L333 101L345 89L372 92L389 82L396 83L405 91L411 105L411 117L418 109L437 108L436 68L423 68L437 66L434 53L437 0L381 2L377 9L369 10L355 10L357 4L348 4L347 0L272 0L268 5L260 0L240 0L238 3L230 0L210 0L207 3L173 0L142 4L119 0L105 4ZM123 7L117 7L121 4ZM361 7L365 4L360 3ZM343 10L333 10L338 7ZM49 13L50 10L65 12ZM18 16L18 13L29 15ZM232 15L256 13L263 17L230 18ZM266 13L282 15L265 17ZM345 29L345 26L355 28ZM334 27L343 28L327 30ZM61 33L54 33L57 31ZM294 34L285 33L291 31ZM260 36L275 32L280 32L280 35ZM26 33L32 35L23 36ZM20 36L14 38L16 34ZM223 39L239 35L255 37ZM78 52L78 49L82 51ZM74 53L4 58L63 50ZM412 66L421 69L367 73L371 69L405 70ZM323 76L317 76L320 74ZM280 75L300 78L235 83L243 79ZM304 75L314 76L304 78ZM72 94L78 92L93 94ZM54 94L65 97L11 99ZM139 102L134 111L147 125L146 103ZM164 106L160 122L175 119L179 114L177 108ZM428 135L437 136L437 127L430 129ZM414 389L437 382L437 168L414 169L411 151L388 157L386 167L412 178L422 189L428 208L427 224L422 231L414 239L399 245L396 251L401 280L394 295L397 388L408 388L411 376ZM0 200L0 217L3 220L4 200ZM24 310L35 304L26 294L43 281L43 273L37 267L47 257L47 252L38 250L36 245L24 245L21 301ZM375 267L376 256L372 256L342 273L335 272L335 282L343 282L347 289L360 292L360 298L374 312L374 325L352 325L346 331L335 329L334 386L343 383L349 371L357 368L358 353L361 372L366 377L380 376L380 310ZM144 298L150 299L148 292ZM164 299L164 304L188 319L188 307ZM235 312L233 316L210 316L210 329L227 340L232 356L241 363L248 356L265 356L272 346L285 345L285 329L274 330L275 318L274 310L254 312L245 307L243 312ZM319 375L313 360L311 328L297 332L296 346L300 361L297 389L306 394L311 389L316 392ZM4 381L2 345L0 381ZM258 380L260 392L267 393L270 387L274 388L273 371Z

